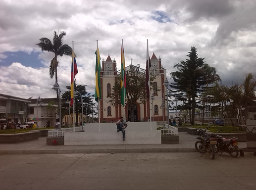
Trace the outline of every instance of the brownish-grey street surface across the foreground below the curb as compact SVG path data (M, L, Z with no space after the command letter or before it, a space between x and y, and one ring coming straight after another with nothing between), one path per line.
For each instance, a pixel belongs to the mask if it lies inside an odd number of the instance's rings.
M256 156L0 155L1 190L256 190Z

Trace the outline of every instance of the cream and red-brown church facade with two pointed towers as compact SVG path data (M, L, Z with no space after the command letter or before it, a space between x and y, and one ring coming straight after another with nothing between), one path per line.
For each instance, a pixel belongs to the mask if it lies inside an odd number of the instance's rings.
M120 63L119 63L120 64ZM110 95L111 90L114 86L115 81L117 81L117 77L120 77L121 70L117 70L115 59L112 60L108 55L106 60L102 60L102 71L101 71L101 91L102 91L102 99L100 102L101 110L100 120L101 123L103 119L106 122L116 122L119 117L123 116L127 121L131 121L131 114L129 107L118 105L111 105ZM136 67L132 65L126 66L126 71L129 69ZM145 72L145 69L140 68L140 72ZM163 85L166 79L166 70L161 65L161 58L157 58L153 53L151 58L151 68L150 75L155 75L154 81L152 81L153 89L151 89L150 95L151 98L147 99L146 103L141 103L139 100L136 102L137 106L134 110L134 121L148 121L150 115L152 116L152 121L166 121L167 117L167 109L166 107L166 87ZM129 84L126 84L127 86ZM151 112L151 113L150 113Z

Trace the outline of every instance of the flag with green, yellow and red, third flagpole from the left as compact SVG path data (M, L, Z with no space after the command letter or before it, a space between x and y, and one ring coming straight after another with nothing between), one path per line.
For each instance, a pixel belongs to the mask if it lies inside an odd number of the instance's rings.
M122 40L121 47L121 104L125 105L125 97L126 97L126 73L125 73L125 61L124 61L124 47Z

